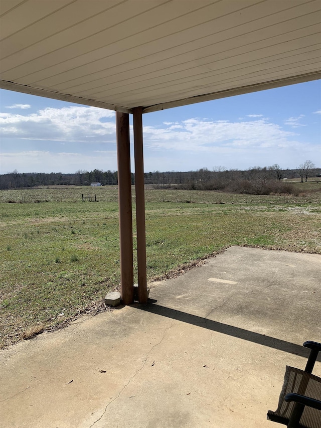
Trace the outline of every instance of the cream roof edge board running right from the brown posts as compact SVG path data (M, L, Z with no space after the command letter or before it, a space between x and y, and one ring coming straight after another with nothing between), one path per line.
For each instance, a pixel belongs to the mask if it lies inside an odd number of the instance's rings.
M177 101L170 101L161 104L154 104L148 107L143 107L143 113L150 113L152 111L165 110L167 108L180 107L188 104L195 104L197 102L212 101L220 98L227 98L236 95L247 94L250 92L264 91L266 89L279 88L281 86L294 85L296 83L308 82L311 80L321 79L321 71L314 71L312 73L305 73L292 77L285 77L282 79L271 80L269 82L256 83L254 85L240 86L238 88L226 89L219 92L212 92L204 95L197 95L190 98L183 98Z

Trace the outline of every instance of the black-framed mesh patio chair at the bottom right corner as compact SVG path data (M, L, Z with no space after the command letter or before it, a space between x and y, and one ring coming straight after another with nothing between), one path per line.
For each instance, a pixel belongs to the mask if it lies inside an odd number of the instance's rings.
M311 374L321 343L303 346L311 350L305 370L286 366L277 410L269 410L267 419L288 428L321 428L321 378Z

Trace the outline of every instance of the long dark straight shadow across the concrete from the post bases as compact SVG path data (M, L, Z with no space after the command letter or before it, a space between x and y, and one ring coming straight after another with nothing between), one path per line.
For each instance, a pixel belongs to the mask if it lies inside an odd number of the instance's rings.
M227 334L229 336L238 337L239 339L248 340L259 345L267 346L269 348L278 349L283 352L298 355L300 357L308 358L309 349L295 343L287 342L285 340L276 339L275 337L265 336L259 333L252 332L250 330L241 329L239 327L230 326L228 324L219 323L212 321L207 318L198 317L191 315L186 312L178 311L176 309L167 308L161 305L155 305L150 303L146 306L137 305L137 309L142 311L151 312L153 314L161 315L162 317L171 318L173 320L182 321L184 323L193 324L195 326L204 327L208 330L213 330L218 333ZM317 361L321 362L321 356L319 355Z

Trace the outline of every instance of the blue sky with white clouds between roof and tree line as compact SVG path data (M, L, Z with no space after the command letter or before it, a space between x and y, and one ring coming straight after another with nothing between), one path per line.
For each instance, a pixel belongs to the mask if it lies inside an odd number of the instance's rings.
M117 170L113 111L6 90L0 97L0 174ZM293 169L305 160L320 168L321 81L147 113L143 127L145 172Z

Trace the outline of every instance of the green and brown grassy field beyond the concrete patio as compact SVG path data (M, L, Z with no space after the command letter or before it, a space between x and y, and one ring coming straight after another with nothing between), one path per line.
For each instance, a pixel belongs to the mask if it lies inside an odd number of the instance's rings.
M296 185L297 197L146 189L148 281L230 245L320 254L321 185ZM0 192L0 346L97 310L119 285L117 201L116 187Z

